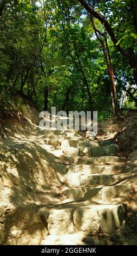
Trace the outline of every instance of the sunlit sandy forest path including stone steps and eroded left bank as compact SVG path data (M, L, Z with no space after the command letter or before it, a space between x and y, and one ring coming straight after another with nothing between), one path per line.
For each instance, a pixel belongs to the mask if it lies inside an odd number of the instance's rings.
M0 145L1 244L124 244L136 160L120 156L114 136L10 127Z

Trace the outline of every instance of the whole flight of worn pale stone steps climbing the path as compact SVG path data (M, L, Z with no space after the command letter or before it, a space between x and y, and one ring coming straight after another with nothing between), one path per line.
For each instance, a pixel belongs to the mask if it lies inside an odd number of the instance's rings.
M115 234L125 224L126 215L126 205L119 198L125 186L120 177L126 164L116 156L118 145L110 140L86 138L74 131L56 132L47 142L54 150L48 150L70 161L63 189L66 199L40 209L48 230L42 244L78 245L84 244L83 237Z

